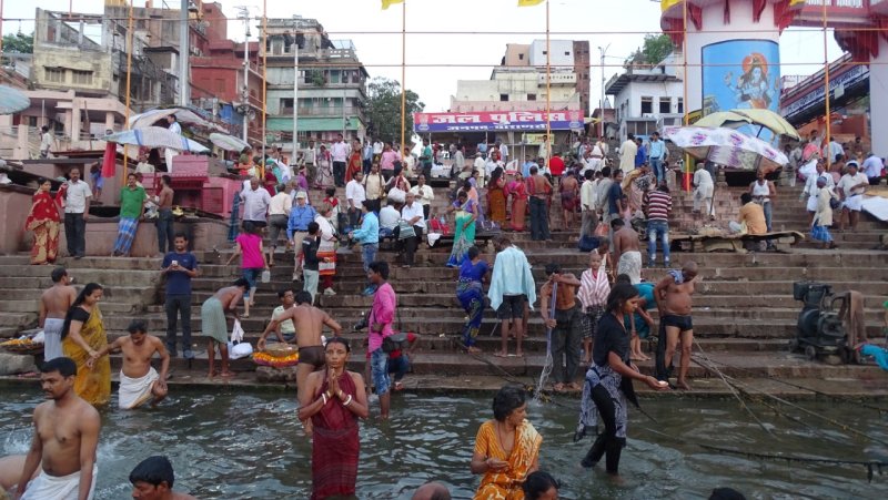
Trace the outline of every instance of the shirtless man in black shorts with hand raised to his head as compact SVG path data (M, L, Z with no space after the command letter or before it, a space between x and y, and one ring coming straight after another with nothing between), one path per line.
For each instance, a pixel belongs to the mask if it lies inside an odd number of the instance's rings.
M676 347L682 345L682 361L678 365L676 384L690 390L687 369L690 366L690 346L694 343L694 324L690 319L690 296L697 278L697 263L688 262L682 271L670 271L654 287L654 299L659 310L659 340L657 343L656 376L667 380L673 368ZM664 338L665 337L665 338ZM668 368L667 368L668 365Z

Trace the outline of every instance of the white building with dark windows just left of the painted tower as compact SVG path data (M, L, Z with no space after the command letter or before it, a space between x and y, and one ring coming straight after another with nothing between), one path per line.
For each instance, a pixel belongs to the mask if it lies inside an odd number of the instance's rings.
M682 54L672 53L657 65L626 68L605 85L605 93L614 96L618 139L628 134L647 136L668 125L679 125L685 112L684 86L677 69Z

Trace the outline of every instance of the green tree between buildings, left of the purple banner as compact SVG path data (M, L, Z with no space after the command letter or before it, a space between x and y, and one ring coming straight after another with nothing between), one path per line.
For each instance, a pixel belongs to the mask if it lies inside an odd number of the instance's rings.
M413 134L413 113L425 109L416 92L407 89L404 141ZM401 83L395 80L374 78L367 85L367 120L371 135L386 142L401 142Z

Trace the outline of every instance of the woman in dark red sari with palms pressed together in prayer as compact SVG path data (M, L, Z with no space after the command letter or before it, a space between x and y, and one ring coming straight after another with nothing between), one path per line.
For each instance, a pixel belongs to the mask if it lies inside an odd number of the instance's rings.
M351 348L342 337L324 346L326 367L305 380L299 419L312 419L312 500L354 496L361 440L357 419L367 418L364 377L349 371Z

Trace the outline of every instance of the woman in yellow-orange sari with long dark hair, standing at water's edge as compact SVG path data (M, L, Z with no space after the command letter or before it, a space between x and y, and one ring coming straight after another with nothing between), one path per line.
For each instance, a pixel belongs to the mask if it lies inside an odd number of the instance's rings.
M102 286L88 283L80 292L62 326L62 353L77 364L74 392L93 406L111 398L111 360L95 354L108 346L99 300ZM95 358L93 360L93 358Z

